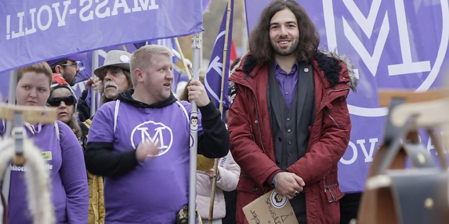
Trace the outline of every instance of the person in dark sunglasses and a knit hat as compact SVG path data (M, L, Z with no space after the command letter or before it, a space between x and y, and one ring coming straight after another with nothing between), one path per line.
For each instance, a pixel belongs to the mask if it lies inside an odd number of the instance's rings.
M78 121L76 113L76 97L69 84L57 74L53 74L51 81L50 98L47 100L49 107L58 108L58 120L67 124L75 133L83 149L87 140L87 126Z

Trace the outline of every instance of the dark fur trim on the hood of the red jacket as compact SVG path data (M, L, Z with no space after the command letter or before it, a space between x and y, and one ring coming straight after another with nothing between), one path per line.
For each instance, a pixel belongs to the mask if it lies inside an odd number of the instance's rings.
M349 58L346 55L338 55L335 51L319 49L316 51L313 58L318 62L318 68L324 71L326 79L331 84L331 87L335 86L339 81L339 74L342 69L339 65L339 61L342 61L348 68L350 80L348 82L348 85L351 87L352 91L356 92L357 79L355 77L352 64L350 63ZM240 65L241 63L243 63L243 65ZM232 69L230 74L232 75L232 73L237 69L241 69L241 71L243 71L244 73L249 74L256 65L257 62L248 52L242 57L242 60Z

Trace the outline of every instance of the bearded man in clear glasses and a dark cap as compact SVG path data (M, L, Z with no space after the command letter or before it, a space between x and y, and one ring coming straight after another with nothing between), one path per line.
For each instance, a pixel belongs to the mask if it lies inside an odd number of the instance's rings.
M78 61L86 59L87 53L77 53L65 58L57 58L47 61L51 71L62 76L70 86L75 85L76 75L79 72Z

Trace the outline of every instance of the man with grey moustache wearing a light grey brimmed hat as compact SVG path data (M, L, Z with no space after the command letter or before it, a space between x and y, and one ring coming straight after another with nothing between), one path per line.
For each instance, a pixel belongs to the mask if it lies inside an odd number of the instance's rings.
M131 54L126 51L111 50L106 55L103 66L95 69L97 78L87 81L86 90L78 103L78 113L82 121L90 117L90 109L85 102L90 85L100 93L100 105L115 100L120 92L133 87L129 73L130 57Z

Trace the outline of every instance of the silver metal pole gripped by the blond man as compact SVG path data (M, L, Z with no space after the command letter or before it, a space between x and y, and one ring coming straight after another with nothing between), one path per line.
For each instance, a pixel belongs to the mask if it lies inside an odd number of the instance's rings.
M200 49L201 49L200 34L196 33L192 39L192 80L199 80L200 74ZM198 107L195 101L191 102L192 111L190 112L190 183L189 183L189 224L195 224L196 203L197 197L197 147L198 147L198 122L192 122L193 119L198 119Z

